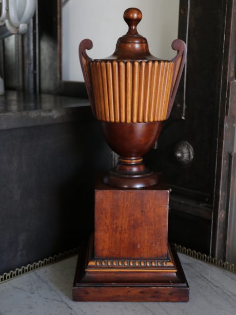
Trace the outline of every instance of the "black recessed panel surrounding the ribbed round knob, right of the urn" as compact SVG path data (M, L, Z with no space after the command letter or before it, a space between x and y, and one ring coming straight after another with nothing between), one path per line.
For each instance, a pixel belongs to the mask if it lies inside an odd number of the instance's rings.
M168 183L210 194L211 202L221 21L222 0L190 1L185 119L176 119L173 113L161 133L158 149L147 155L151 168L162 171ZM175 102L174 107L178 108L176 105ZM188 141L194 150L192 163L185 167L175 161L173 154L174 146L181 140Z

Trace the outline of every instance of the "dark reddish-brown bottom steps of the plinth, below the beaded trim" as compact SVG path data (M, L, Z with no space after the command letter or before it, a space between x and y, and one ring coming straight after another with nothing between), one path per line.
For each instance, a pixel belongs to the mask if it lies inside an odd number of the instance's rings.
M78 255L73 286L74 301L187 302L189 287L178 255L170 247L175 272L91 271L86 269L89 246Z

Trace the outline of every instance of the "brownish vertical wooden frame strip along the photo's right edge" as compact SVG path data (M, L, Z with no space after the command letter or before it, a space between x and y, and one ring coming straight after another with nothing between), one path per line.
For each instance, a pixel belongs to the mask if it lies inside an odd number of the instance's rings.
M225 260L229 252L234 250L228 230L234 228L234 222L229 222L230 203L233 195L230 186L233 183L235 170L230 170L230 156L235 152L235 42L236 42L236 1L228 0L224 3L225 15L222 23L221 51L219 58L222 62L219 67L219 89L217 102L219 110L217 115L217 165L215 169L214 184L214 213L212 228L212 255ZM235 263L235 262L234 262Z

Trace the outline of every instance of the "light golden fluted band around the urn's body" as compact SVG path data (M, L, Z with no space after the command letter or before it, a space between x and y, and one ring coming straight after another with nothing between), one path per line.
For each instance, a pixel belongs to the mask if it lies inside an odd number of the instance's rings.
M92 61L90 74L98 120L164 121L174 78L172 61Z

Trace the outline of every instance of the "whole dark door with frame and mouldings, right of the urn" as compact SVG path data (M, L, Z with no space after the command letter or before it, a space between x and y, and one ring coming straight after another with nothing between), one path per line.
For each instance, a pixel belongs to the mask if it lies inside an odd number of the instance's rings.
M162 171L172 189L170 239L223 260L232 245L227 229L232 228L228 205L235 133L235 3L180 1L179 37L186 38L188 49L186 82L182 80L155 149L146 155L147 165ZM174 156L181 141L194 151L192 162L184 166ZM201 225L204 232L195 228Z

